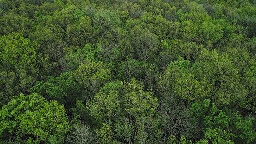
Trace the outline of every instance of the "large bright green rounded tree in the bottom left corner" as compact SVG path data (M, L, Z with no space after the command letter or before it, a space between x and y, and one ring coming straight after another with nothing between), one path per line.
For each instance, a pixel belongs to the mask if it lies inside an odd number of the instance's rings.
M20 94L0 110L1 140L15 136L18 143L62 143L69 128L64 106L36 93Z

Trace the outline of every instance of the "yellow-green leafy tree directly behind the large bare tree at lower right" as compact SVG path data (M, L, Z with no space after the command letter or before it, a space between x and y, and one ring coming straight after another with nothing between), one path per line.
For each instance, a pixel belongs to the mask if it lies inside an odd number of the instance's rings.
M173 95L190 103L206 96L204 85L192 74L190 61L179 58L171 62L160 80L163 95Z

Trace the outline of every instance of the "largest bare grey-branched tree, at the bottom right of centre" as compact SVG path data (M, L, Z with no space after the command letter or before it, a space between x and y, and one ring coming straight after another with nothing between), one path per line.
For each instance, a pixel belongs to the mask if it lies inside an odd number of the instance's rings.
M187 138L197 134L197 121L174 96L161 96L159 120L164 130L164 143L170 135Z

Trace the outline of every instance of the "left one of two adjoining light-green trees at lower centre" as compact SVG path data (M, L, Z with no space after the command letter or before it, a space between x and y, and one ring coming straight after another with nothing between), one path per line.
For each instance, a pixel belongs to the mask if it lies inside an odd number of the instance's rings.
M109 82L87 102L90 115L97 124L113 124L122 114L120 99L124 86L121 82Z

